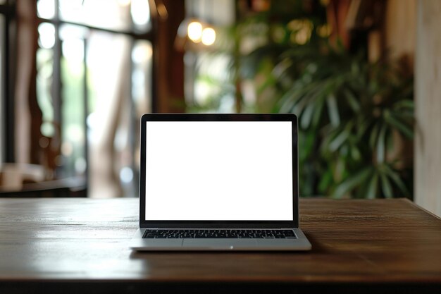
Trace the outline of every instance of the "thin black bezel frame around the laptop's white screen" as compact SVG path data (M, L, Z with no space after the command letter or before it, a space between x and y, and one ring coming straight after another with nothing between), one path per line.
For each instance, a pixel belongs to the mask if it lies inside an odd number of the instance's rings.
M292 123L292 221L149 221L145 220L147 121L288 121ZM294 114L144 114L141 123L139 166L139 227L141 228L298 228L298 127Z

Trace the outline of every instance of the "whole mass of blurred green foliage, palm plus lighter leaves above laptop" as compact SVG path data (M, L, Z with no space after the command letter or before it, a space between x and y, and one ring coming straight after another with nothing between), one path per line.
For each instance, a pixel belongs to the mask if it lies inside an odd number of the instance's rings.
M258 96L272 98L271 108L259 107L258 99L256 111L299 117L301 195L411 197L412 162L399 146L414 137L412 76L397 61L369 63L363 52L330 46L316 34L323 18L312 15L295 16L310 27L306 42L274 38L269 29L267 42L241 61ZM302 30L292 30L292 18L266 16L277 20L268 27L284 27L285 35Z

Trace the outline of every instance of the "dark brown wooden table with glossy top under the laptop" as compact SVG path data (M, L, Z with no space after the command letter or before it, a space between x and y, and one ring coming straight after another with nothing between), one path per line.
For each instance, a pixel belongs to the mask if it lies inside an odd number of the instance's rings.
M300 205L311 252L136 253L137 199L0 199L0 293L441 293L441 219L403 199Z

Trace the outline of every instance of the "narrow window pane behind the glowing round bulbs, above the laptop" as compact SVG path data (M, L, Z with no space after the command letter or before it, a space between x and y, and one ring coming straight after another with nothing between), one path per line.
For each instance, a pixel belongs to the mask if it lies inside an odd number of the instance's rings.
M235 1L187 0L185 100L189 112L235 112ZM241 42L242 44L242 42ZM225 53L230 52L230 53Z

